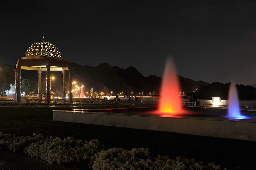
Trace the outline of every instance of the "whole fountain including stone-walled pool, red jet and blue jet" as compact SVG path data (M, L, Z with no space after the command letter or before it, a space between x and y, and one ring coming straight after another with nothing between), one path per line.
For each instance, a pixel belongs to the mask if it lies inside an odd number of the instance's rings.
M158 107L56 110L53 120L256 141L255 111L242 110L248 117L241 115L233 83L228 110L207 106L183 108L180 92L175 64L168 58Z

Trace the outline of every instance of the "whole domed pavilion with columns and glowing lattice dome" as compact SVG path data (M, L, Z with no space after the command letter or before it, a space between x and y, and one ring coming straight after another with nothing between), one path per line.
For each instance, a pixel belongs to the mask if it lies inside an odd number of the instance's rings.
M45 93L45 103L50 103L50 71L62 71L62 98L66 98L65 89L65 73L68 70L69 76L69 94L68 102L72 102L72 76L71 76L71 63L65 61L59 49L51 44L50 42L45 42L44 37L42 41L36 42L29 46L25 56L18 59L15 70L15 102L21 102L20 94L20 83L21 83L21 70L35 70L38 71L38 102L42 101L42 72L46 71L46 93Z

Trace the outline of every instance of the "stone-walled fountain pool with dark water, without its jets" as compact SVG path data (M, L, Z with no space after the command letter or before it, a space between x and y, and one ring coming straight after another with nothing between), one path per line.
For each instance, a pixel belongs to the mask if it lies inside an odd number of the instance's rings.
M230 119L223 108L184 110L187 113L172 115L157 107L55 110L53 120L256 141L256 111L242 110L250 119Z

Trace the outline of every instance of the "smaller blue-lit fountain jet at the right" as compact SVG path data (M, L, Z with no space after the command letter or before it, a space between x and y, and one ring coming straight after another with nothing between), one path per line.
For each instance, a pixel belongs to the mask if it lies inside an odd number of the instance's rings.
M228 116L227 118L233 119L244 119L246 118L241 114L239 101L238 101L238 93L237 88L234 83L230 83L229 85L229 93L228 93Z

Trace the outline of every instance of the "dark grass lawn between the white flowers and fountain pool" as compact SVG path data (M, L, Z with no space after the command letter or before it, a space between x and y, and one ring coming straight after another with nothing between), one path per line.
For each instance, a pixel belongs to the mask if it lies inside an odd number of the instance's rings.
M138 103L125 106L138 107ZM83 106L82 108L122 108L120 105ZM140 106L140 105L139 105ZM154 106L142 104L142 107ZM98 139L106 148L149 148L152 155L195 158L204 163L214 162L228 169L255 169L256 142L185 135L179 133L138 130L129 128L87 125L81 123L53 122L52 110L74 107L0 107L0 131L16 135L32 135L65 138L72 136L90 141Z

